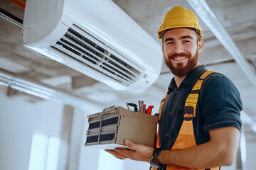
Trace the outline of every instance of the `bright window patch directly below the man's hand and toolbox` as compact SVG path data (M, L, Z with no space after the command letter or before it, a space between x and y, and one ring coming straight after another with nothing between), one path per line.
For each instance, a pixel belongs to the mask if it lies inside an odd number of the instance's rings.
M100 150L100 157L98 163L98 170L122 170L122 160L113 157L111 154L105 152L104 149Z

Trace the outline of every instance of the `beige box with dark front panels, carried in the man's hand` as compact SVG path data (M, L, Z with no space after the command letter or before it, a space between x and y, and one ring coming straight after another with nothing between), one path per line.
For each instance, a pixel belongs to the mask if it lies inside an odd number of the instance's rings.
M127 148L124 140L136 144L154 146L156 136L156 115L147 115L112 106L100 113L87 115L89 127L85 146L114 149Z

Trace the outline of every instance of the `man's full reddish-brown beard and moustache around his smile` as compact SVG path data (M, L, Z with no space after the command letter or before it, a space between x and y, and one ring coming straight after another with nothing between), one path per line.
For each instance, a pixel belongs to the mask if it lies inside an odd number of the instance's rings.
M188 64L184 65L183 63L177 63L177 67L174 67L174 65L171 64L169 59L174 58L176 56L188 57ZM183 77L189 72L191 72L194 67L196 67L196 64L198 63L198 50L196 50L196 54L192 57L190 54L175 53L173 55L168 56L167 59L166 57L164 57L164 61L166 63L166 66L171 70L172 74L176 75L177 77Z

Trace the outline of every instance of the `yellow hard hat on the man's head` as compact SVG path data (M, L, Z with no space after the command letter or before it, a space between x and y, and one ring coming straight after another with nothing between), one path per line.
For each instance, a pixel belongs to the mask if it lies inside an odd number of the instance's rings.
M166 13L157 31L159 40L161 40L163 30L171 28L196 28L196 31L200 34L200 40L203 38L203 30L199 26L198 18L192 11L182 6L175 6Z

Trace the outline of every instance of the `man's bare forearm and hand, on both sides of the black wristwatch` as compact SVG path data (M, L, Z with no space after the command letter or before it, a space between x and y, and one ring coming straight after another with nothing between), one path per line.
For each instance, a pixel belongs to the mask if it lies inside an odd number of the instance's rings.
M173 164L194 169L206 169L215 166L229 166L233 164L235 152L238 148L240 132L238 128L226 127L210 130L210 141L189 149L163 150L159 155L162 164ZM136 145L125 141L127 149L107 151L119 159L130 158L137 161L150 162L153 148Z

